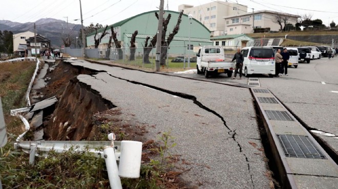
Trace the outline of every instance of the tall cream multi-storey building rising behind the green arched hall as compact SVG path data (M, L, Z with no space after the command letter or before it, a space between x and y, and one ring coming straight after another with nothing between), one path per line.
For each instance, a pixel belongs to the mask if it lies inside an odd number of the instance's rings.
M211 2L194 7L193 5L180 5L178 11L183 10L184 14L191 14L193 18L200 21L211 31L212 36L223 35L225 16L242 14L247 12L247 6L228 2Z

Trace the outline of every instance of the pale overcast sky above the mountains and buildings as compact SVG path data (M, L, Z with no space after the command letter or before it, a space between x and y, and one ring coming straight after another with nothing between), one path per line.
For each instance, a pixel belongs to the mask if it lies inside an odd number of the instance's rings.
M199 6L212 0L165 0L164 7L178 11L178 6L188 4ZM226 2L226 1L221 1ZM337 0L231 0L231 3L248 6L257 10L272 10L298 15L312 15L328 26L332 20L338 23ZM83 24L93 23L111 25L137 14L156 10L160 0L82 0ZM80 24L79 0L1 0L0 19L15 22L34 22L40 18L55 18ZM284 6L284 7L281 7ZM304 10L303 10L304 9ZM78 20L76 20L78 19Z

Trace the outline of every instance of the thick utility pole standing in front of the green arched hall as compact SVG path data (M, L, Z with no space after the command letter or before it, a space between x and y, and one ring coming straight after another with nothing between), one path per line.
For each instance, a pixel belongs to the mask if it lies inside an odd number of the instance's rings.
M160 13L158 14L158 28L157 28L157 41L156 41L156 56L155 56L155 72L160 71L161 60L161 41L163 32L163 5L164 0L160 0Z

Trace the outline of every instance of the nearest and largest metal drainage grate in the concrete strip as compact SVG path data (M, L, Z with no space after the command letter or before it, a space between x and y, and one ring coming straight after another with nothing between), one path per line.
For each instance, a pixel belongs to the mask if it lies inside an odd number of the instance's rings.
M308 136L277 134L277 137L286 157L327 159Z

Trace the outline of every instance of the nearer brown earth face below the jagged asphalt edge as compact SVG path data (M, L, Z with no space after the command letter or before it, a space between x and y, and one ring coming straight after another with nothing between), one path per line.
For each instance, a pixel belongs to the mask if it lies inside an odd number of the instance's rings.
M93 130L92 115L113 107L111 103L104 102L98 92L73 78L67 84L45 127L46 139L87 139Z

